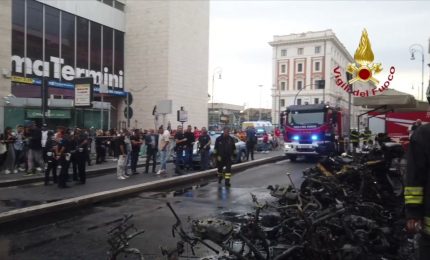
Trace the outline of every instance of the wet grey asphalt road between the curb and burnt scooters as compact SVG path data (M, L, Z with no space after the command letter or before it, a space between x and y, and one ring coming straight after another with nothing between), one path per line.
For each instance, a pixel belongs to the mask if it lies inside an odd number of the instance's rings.
M213 181L176 191L141 193L128 199L8 226L0 235L0 259L106 259L107 231L124 214L133 214L131 223L145 230L132 240L131 245L139 248L145 259L164 259L160 246L173 247L177 241L171 235L175 219L165 204L167 201L185 225L188 218L246 213L252 211L250 193L261 201L270 200L268 185L288 184L287 171L299 184L303 169L313 165L284 160L234 175L230 189ZM200 256L209 254L203 247L198 253Z

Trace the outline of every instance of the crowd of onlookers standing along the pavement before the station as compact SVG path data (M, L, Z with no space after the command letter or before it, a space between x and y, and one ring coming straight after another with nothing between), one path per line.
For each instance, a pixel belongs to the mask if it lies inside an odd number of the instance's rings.
M230 130L229 130L230 133ZM247 159L254 159L257 133L254 128L234 131L232 134L246 142ZM276 133L275 133L276 138ZM146 157L144 173L160 175L167 173L167 160L174 154L177 175L193 170L194 144L198 142L200 169L209 168L211 141L205 127L198 129L188 125L186 129L111 129L109 131L56 127L49 130L47 125L38 127L34 122L18 125L15 129L6 127L0 136L0 170L2 174L33 176L45 175L45 185L50 181L60 188L67 187L68 181L78 184L86 182L86 166L107 161L107 157L117 161L117 178L126 179L139 174L139 158ZM268 135L263 135L263 151L268 148ZM95 158L92 156L95 154ZM160 164L157 169L157 161ZM69 177L69 168L72 170ZM69 180L69 178L71 180Z

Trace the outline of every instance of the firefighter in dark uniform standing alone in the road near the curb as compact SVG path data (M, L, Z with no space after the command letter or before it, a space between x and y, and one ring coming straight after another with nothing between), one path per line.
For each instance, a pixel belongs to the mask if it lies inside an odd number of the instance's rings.
M217 158L218 183L221 183L224 177L225 186L230 187L231 158L236 154L236 145L233 137L230 136L230 129L228 127L224 127L223 134L216 139L214 154ZM225 172L223 173L224 167Z

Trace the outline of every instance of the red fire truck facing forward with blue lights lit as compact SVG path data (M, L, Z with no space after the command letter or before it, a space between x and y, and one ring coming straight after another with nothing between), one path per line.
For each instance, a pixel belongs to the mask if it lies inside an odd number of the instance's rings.
M281 113L284 152L291 160L343 151L345 113L323 104L292 105Z

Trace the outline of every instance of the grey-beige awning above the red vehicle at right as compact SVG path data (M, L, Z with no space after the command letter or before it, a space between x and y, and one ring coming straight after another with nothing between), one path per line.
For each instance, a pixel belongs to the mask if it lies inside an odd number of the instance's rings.
M387 109L415 108L417 106L412 95L394 89L387 89L381 94L371 97L355 97L353 104L355 106L366 106L370 109L383 105L386 105Z

